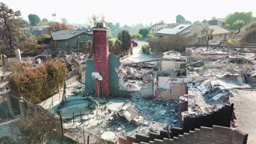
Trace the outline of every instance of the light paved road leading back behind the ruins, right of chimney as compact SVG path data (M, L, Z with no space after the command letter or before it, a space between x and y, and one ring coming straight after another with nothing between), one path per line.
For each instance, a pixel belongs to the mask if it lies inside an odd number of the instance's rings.
M141 46L143 44L148 44L148 43L139 41L138 46L133 47L132 55L123 59L122 61L124 63L126 63L125 61L142 62L142 61L150 61L150 60L153 60L153 59L158 59L158 58L154 58L154 57L151 57L150 55L147 55L147 54L143 53L141 51ZM155 63L155 62L152 62L152 63Z

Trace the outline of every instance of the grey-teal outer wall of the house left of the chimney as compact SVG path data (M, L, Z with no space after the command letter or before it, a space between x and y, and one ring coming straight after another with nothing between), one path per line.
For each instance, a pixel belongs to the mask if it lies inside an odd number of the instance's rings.
M62 49L66 49L66 48L72 48L72 47L78 47L78 42L79 41L88 41L91 40L92 41L92 35L91 34L86 34L86 33L82 33L79 34L71 39L67 39L67 40L57 40L57 47L58 48L62 48ZM67 43L67 45L66 45Z

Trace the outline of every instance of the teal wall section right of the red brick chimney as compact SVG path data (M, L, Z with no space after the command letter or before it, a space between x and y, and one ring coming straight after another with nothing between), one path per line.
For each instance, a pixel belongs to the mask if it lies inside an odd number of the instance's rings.
M119 77L116 68L120 67L120 59L115 55L109 55L109 82L110 82L110 91L109 94L113 97L120 97L120 90L119 90Z

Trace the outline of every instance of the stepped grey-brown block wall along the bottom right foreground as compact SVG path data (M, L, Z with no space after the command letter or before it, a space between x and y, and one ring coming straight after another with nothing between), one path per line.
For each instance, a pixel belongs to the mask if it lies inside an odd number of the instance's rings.
M162 132L162 131L161 131ZM137 134L135 137L119 137L119 144L154 143L154 144L243 144L248 134L243 131L213 125L212 128L201 127L189 133L179 134L167 139L166 134L149 133L149 136Z

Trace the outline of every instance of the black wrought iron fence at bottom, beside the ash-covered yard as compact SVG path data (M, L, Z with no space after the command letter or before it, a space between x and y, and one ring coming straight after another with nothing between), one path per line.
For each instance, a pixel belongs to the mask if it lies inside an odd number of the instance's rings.
M64 134L72 137L77 140L79 143L87 143L87 144L113 144L113 142L103 140L101 137L89 133L82 128L76 127L72 123L62 119L63 124L63 132Z

